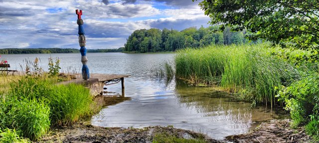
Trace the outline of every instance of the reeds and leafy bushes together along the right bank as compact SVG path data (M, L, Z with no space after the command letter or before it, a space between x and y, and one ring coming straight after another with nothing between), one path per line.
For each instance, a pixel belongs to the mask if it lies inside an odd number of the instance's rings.
M259 44L179 50L174 62L177 78L222 86L253 103L285 105L293 127L305 126L319 140L318 59L314 49Z

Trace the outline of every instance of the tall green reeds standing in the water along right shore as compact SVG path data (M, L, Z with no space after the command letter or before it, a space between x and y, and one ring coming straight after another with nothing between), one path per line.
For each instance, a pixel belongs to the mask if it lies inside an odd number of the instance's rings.
M183 49L175 56L176 77L215 83L257 103L277 102L275 86L289 85L300 73L270 54L268 45L211 45ZM217 78L217 79L216 79ZM214 80L208 81L207 80Z

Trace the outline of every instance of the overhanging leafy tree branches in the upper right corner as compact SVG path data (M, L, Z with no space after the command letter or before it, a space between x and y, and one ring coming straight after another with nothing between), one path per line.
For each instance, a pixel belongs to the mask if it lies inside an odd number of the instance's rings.
M203 0L199 6L212 25L248 29L253 40L319 45L319 0Z

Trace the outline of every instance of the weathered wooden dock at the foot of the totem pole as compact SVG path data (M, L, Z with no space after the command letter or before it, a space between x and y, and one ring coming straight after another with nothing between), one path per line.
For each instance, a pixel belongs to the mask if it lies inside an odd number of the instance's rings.
M75 74L76 79L61 82L61 84L67 84L67 83L84 84L90 88L90 91L93 95L101 95L101 93L103 93L104 85L111 85L111 84L119 83L121 81L122 97L125 97L124 78L129 76L130 75L126 75L126 74L93 73L93 74L90 74L90 78L88 80L84 80L81 74Z

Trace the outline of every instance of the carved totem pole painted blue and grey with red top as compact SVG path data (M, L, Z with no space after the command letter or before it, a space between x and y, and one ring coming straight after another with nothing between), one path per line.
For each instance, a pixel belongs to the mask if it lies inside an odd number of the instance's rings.
M83 19L81 19L82 10L76 9L75 13L78 15L78 20L76 23L79 25L79 44L80 44L80 53L81 53L81 62L82 66L82 77L84 80L88 80L90 78L90 71L86 63L88 62L88 58L86 58L86 48L85 48L85 36L84 36L84 29L83 29Z

